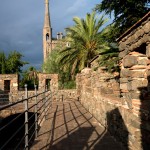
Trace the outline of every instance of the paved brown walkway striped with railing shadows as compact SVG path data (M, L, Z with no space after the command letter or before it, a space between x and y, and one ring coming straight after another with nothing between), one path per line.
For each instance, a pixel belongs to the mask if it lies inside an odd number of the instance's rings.
M125 150L78 101L53 102L31 150Z

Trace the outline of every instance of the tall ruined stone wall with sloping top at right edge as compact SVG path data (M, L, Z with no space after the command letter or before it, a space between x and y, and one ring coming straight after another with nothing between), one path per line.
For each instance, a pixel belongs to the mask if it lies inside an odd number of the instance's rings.
M121 100L138 118L141 149L150 149L150 12L120 39L119 50Z

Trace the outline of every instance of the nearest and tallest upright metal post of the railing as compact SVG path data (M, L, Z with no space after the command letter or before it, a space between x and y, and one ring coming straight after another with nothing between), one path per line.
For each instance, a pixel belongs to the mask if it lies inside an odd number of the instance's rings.
M25 84L25 150L29 149L29 130L28 130L28 90L27 90L27 84Z

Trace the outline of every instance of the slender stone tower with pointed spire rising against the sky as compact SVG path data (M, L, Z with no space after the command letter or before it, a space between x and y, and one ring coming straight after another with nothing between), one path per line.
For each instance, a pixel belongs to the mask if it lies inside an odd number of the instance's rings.
M52 28L49 13L49 0L45 0L45 18L43 27L43 61L46 61L48 54L52 50Z

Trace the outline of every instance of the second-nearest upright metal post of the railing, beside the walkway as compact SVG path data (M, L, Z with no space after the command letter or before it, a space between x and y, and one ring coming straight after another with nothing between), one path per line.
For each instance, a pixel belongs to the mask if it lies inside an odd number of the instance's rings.
M35 138L37 138L38 134L38 116L37 116L37 85L34 86L35 88Z

